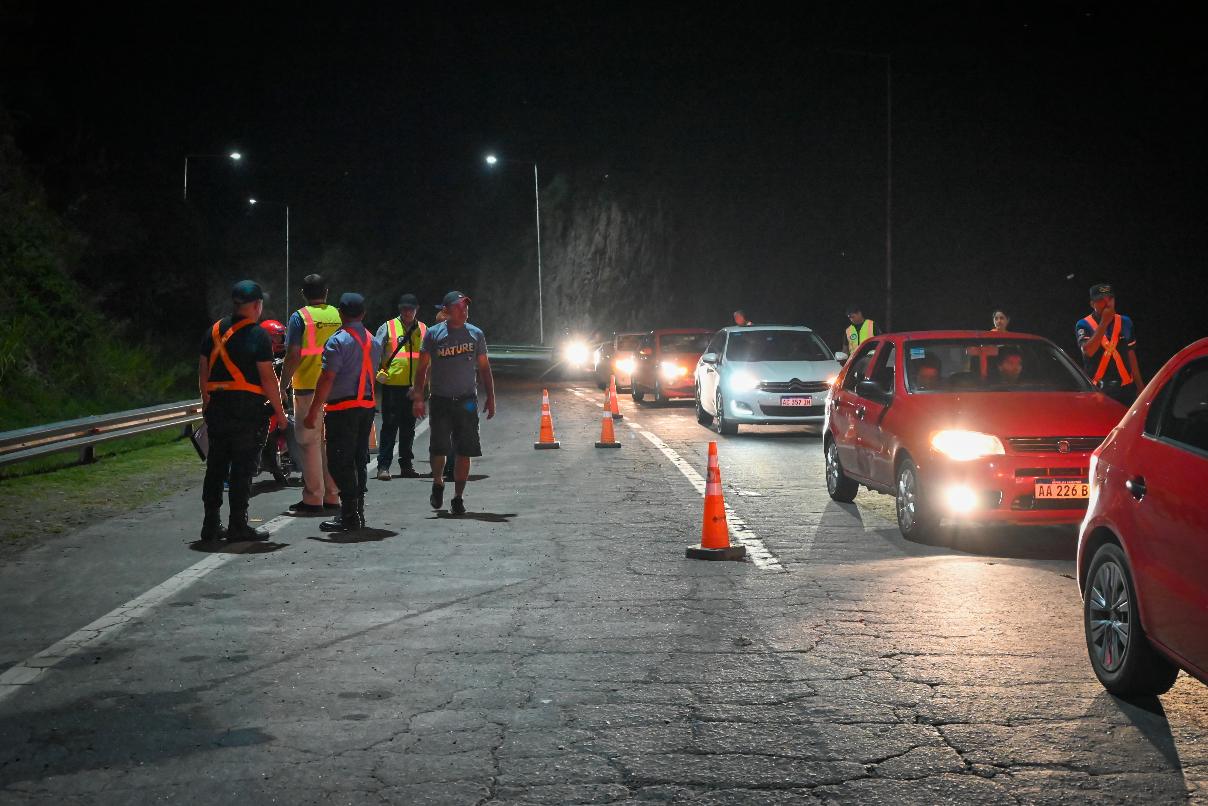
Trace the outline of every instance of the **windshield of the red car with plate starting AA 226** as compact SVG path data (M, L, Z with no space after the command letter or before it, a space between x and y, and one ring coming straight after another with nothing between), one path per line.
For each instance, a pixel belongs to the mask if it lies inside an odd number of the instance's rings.
M912 392L1091 392L1086 375L1049 341L943 339L906 341Z

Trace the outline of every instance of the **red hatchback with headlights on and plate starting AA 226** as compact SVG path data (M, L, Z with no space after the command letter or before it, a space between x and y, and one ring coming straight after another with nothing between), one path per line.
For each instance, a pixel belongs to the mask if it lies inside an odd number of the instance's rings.
M1076 524L1091 451L1123 413L1038 335L882 335L826 401L826 489L842 502L861 484L895 496L908 538L942 519Z

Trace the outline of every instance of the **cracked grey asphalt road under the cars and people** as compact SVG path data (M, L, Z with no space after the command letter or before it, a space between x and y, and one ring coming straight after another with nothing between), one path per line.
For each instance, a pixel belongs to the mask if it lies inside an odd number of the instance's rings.
M1208 802L1208 690L1102 690L1073 530L910 543L807 428L625 398L598 450L550 392L563 449L505 390L463 518L268 487L273 542L204 554L191 490L0 568L0 804ZM709 439L754 561L684 557Z

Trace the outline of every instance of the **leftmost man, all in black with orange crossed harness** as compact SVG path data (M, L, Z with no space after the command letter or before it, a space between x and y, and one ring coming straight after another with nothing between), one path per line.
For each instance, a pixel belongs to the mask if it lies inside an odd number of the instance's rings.
M202 337L197 385L209 437L202 485L203 541L268 539L267 531L248 522L251 477L268 438L269 417L275 413L278 426L286 424L273 372L273 343L256 323L267 298L251 280L236 284L231 291L234 313L215 322ZM223 483L231 490L231 521L226 530L221 519Z

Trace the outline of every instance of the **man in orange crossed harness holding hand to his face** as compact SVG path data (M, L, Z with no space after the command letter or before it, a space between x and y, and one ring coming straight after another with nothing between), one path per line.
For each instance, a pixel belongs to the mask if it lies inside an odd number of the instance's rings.
M1082 351L1082 368L1100 392L1132 405L1145 385L1137 364L1132 320L1116 313L1116 293L1107 282L1091 286L1094 313L1078 320L1074 333Z

